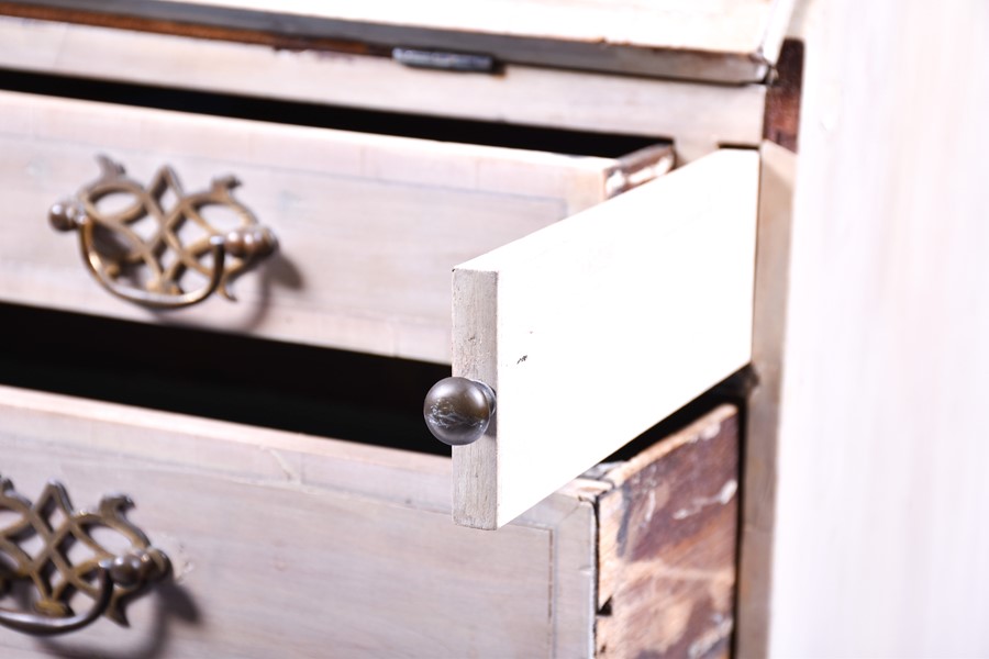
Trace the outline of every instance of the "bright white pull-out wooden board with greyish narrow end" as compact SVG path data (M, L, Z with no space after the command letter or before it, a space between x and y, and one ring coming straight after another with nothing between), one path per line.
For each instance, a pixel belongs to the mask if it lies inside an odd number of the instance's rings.
M719 152L455 269L454 375L498 395L453 450L457 523L508 523L748 362L758 168Z

